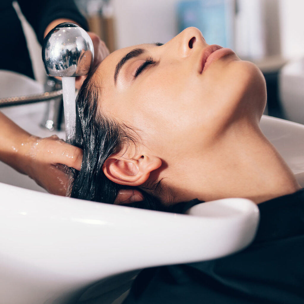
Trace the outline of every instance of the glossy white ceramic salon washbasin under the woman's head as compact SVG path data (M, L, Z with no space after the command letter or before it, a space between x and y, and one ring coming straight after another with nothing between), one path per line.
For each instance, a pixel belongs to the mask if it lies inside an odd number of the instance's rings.
M7 96L24 94L13 86L15 94ZM40 103L5 113L27 131L50 136L53 133L39 127L44 109ZM261 129L304 186L304 126L263 116ZM1 303L67 304L88 287L91 294L103 293L103 303L111 303L127 289L119 286L127 286L136 270L241 250L253 239L258 223L257 206L246 199L203 203L180 215L42 191L0 163ZM81 299L90 299L90 292Z

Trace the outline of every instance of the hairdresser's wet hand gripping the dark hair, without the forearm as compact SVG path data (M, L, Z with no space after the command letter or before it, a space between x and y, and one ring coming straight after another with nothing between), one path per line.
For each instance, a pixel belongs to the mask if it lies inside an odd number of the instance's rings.
M29 175L50 193L67 195L71 182L67 167L80 170L82 150L60 140L56 135L47 138L31 136L26 145L27 159L22 173Z

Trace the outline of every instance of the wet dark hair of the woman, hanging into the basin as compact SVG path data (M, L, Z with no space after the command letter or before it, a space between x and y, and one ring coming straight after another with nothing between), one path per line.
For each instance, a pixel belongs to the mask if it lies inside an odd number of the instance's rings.
M136 139L131 128L109 119L99 111L100 88L92 78L93 74L94 70L89 72L76 99L76 130L71 143L83 149L83 159L81 170L74 172L71 197L113 204L120 189L133 188L143 194L144 200L126 206L164 210L157 197L138 187L118 185L103 173L105 160L117 152L122 143L136 143Z

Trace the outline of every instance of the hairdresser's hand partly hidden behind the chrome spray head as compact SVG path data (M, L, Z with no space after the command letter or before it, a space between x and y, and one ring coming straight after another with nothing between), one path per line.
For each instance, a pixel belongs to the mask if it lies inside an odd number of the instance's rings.
M107 57L110 52L105 43L93 32L88 32L89 36L92 39L93 46L94 46L94 61L93 61L93 68L97 67L102 60ZM78 76L76 77L75 87L79 89L82 83L85 81L86 76Z

